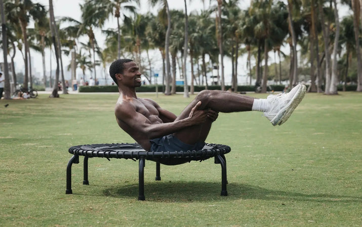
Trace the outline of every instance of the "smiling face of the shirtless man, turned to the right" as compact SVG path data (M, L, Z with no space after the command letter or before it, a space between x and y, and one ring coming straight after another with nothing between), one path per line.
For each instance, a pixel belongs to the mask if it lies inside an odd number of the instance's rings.
M124 70L122 74L117 77L122 84L131 87L141 86L141 73L135 62L128 62L124 64Z

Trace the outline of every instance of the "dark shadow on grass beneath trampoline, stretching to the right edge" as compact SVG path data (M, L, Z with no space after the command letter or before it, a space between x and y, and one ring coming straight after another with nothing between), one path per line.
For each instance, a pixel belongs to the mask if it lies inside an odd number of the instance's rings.
M276 200L283 202L310 201L323 203L360 203L361 197L323 193L303 194L290 191L269 190L259 186L232 183L228 185L228 196L220 196L221 183L213 182L152 182L145 183L147 201L164 202L205 202L240 200ZM138 184L115 186L103 190L111 197L138 198Z

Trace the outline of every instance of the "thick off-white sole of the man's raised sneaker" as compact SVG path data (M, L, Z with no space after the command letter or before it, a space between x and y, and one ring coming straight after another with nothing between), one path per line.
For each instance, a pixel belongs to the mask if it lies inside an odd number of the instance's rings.
M289 102L289 104L283 109L280 109L279 112L275 115L275 117L270 121L270 123L273 126L283 125L292 115L294 109L299 105L299 103L304 98L306 90L307 90L306 86L302 85L301 89L299 89L299 91L295 93L294 97Z

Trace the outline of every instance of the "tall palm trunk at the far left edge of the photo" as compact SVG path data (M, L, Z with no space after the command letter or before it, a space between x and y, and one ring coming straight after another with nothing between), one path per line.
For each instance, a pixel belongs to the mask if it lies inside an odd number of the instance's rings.
M1 21L2 21L2 35L3 35L3 56L4 56L4 98L10 99L10 78L9 78L9 69L8 69L8 37L7 37L7 28L4 14L4 2L0 0L0 13L1 13ZM15 49L14 49L15 51Z

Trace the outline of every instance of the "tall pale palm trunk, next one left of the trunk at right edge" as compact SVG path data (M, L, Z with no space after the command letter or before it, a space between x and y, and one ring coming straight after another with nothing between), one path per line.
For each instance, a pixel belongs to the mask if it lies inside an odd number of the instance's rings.
M337 2L333 0L334 4L334 17L335 17L335 24L336 24L336 34L334 38L334 45L333 45L333 58L332 58L332 76L331 76L331 86L329 89L330 94L338 94L337 85L338 85L338 72L337 72L337 50L338 50L338 41L339 41L339 18L338 18L338 10L337 10Z

